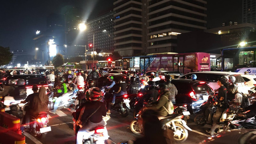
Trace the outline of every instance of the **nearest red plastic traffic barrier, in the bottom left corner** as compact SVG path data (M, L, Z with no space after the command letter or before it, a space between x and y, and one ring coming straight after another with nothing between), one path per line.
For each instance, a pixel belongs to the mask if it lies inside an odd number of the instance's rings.
M0 144L26 144L25 136L0 126Z

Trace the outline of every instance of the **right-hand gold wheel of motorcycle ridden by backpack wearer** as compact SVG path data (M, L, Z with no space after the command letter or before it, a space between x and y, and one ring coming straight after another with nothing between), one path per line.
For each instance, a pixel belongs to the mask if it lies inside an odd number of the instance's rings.
M176 131L174 131L174 140L176 142L184 142L187 140L188 138L188 130L186 130L186 128L184 126L182 126L181 124L175 124L176 127ZM172 128L172 130L174 130Z

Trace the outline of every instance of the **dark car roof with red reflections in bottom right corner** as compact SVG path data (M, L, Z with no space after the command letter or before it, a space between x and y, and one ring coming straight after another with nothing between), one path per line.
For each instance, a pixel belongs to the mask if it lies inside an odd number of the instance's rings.
M206 138L199 144L255 144L256 129L227 130Z

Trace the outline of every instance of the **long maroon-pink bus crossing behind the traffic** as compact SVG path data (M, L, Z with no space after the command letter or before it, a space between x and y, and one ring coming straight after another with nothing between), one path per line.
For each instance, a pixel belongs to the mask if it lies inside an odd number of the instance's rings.
M144 72L150 70L179 71L181 73L210 71L210 54L192 53L154 53L147 56L123 57L123 68L135 68Z

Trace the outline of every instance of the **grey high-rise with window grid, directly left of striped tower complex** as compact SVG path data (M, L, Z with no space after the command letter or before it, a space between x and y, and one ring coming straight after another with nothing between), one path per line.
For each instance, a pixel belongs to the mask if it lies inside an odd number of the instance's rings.
M95 51L112 51L114 50L114 12L110 11L102 14L86 23L88 44L93 44L94 34L94 49ZM89 49L88 52L92 52L93 49Z

